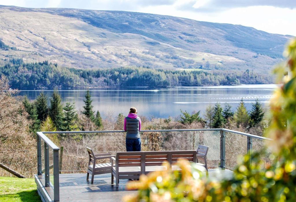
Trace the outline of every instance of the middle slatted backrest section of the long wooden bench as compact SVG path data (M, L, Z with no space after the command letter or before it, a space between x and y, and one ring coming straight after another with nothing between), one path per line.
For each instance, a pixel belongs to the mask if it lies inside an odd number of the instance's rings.
M170 152L168 151L155 151L144 152L145 166L159 166L164 162L170 162Z

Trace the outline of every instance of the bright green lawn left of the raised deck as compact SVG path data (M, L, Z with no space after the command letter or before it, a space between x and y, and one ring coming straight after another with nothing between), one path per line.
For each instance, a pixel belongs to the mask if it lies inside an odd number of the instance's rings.
M0 177L0 201L41 201L33 178Z

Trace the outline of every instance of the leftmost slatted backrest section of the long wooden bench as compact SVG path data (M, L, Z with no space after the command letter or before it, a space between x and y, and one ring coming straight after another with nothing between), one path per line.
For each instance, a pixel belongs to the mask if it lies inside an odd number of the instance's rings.
M141 152L117 152L116 164L118 167L141 166Z

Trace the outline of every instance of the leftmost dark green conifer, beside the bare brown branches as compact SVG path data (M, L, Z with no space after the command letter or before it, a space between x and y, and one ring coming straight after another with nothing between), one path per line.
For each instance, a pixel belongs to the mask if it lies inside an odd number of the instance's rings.
M27 96L23 99L22 104L24 105L26 112L29 114L28 119L32 121L32 124L30 125L30 132L35 134L40 130L40 120L38 119L36 106L30 103Z

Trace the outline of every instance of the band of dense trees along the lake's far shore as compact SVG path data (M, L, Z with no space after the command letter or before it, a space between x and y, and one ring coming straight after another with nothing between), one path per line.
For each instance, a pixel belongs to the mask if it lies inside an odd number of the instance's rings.
M219 86L272 83L269 75L246 71L161 70L150 67L76 69L60 67L49 61L24 63L22 59L3 61L0 75L17 89L86 87L170 87Z

